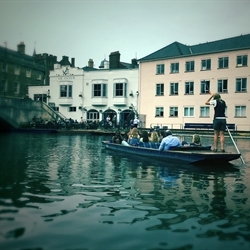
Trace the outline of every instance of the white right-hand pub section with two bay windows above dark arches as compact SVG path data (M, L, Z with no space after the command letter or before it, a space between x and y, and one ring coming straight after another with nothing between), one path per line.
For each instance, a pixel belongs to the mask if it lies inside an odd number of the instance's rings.
M101 69L84 72L82 100L85 120L111 120L116 115L123 125L134 118L138 109L138 68ZM87 110L87 112L85 111Z

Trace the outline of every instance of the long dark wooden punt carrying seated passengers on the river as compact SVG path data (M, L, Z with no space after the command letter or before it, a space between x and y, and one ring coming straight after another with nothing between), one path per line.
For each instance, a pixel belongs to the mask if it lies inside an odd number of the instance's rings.
M210 163L228 163L239 159L238 153L221 153L211 151L211 146L183 146L175 147L168 151L160 151L156 148L147 148L140 146L123 146L121 144L102 141L105 148L123 152L126 154L140 155L160 160L170 160L185 162L190 164L210 164Z

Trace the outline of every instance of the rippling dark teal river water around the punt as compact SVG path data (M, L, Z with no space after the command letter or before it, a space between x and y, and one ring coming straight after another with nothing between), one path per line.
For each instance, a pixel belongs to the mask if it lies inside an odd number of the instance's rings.
M106 152L102 137L11 137L1 249L250 247L249 162L209 170Z

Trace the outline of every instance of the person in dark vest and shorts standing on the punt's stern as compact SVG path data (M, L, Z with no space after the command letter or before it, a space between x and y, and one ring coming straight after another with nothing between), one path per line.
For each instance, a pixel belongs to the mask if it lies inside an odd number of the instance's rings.
M210 98L206 101L206 105L212 105L214 107L214 152L218 150L218 140L220 136L220 147L221 152L225 152L225 136L224 131L226 130L227 122L225 116L226 102L221 99L220 94L211 94Z

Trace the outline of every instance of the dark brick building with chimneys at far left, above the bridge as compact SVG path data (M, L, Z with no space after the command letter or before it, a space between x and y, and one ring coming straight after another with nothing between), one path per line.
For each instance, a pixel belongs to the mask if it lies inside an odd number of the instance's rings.
M28 86L49 85L54 63L57 57L46 53L26 55L23 42L17 45L17 51L0 46L0 96L24 98Z

